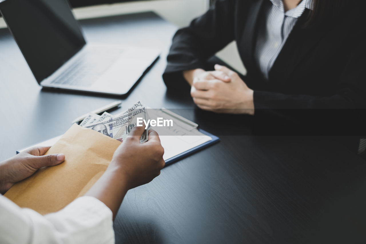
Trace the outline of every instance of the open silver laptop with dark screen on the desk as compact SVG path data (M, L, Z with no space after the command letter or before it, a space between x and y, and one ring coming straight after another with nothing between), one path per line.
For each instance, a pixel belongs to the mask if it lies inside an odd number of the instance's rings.
M43 87L124 95L160 55L87 43L67 0L0 0L0 12Z

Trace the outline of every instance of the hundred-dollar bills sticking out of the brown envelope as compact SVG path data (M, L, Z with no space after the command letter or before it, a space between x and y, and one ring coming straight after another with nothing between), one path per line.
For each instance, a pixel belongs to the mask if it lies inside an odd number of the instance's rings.
M90 113L80 123L80 126L95 130L117 140L123 140L123 138L128 136L132 128L137 126L137 118L145 119L145 121L148 119L147 110L140 101L126 112L117 116L113 116L107 112L104 112L102 115ZM144 130L140 138L140 143L148 140L149 127Z

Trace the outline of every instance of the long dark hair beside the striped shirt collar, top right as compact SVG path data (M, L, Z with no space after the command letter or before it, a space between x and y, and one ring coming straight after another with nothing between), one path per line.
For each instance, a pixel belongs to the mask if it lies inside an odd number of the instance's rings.
M352 4L351 2L350 0L313 0L313 10L309 11L306 25L322 25L334 21L342 14L346 4Z

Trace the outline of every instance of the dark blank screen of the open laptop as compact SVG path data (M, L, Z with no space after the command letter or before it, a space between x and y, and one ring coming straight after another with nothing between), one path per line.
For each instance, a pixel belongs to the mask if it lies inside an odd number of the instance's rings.
M38 83L85 45L67 0L0 0L0 11Z

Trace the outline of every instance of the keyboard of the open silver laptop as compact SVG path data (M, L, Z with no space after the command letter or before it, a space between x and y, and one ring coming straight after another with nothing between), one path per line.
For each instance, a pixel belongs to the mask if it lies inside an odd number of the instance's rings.
M119 58L122 49L91 47L83 50L78 59L51 84L90 86Z

